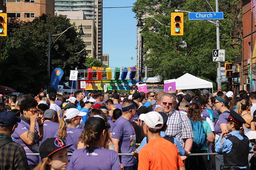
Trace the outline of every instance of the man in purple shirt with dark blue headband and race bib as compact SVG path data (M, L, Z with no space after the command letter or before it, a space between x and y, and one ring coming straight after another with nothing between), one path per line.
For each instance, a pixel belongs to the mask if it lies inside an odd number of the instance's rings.
M114 123L112 129L112 142L117 153L132 153L136 147L136 135L131 124L131 119L136 114L136 104L133 100L124 100L122 104L122 116ZM136 159L133 156L120 156L121 168L135 169Z

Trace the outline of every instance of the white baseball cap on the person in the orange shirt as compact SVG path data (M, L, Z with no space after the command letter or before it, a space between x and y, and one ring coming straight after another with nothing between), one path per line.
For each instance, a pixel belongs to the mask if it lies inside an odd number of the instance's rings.
M144 121L148 127L153 129L161 129L164 124L161 114L155 111L151 111L146 114L140 114L139 118L140 120ZM156 126L158 124L161 124L161 126Z

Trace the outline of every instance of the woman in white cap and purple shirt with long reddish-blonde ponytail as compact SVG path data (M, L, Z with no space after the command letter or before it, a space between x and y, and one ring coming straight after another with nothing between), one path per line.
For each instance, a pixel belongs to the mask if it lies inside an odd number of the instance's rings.
M77 140L83 129L76 127L80 125L80 120L84 115L85 112L80 112L75 108L70 108L60 119L59 130L55 133L54 137L65 141L67 145L73 144L68 148L68 153L73 153L75 150L77 150Z

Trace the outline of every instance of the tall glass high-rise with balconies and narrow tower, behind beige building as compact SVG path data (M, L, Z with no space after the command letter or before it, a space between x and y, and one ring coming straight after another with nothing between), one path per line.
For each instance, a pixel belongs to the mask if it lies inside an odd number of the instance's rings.
M102 60L102 0L55 0L55 11L83 11L97 28L97 59Z

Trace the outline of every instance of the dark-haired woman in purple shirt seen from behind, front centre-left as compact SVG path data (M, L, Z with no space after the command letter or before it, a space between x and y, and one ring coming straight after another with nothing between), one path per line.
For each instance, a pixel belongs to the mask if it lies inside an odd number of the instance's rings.
M103 117L99 115L89 117L84 124L84 130L80 136L80 141L84 143L85 148L73 152L67 169L120 170L121 166L118 154L113 150L102 148L109 128L110 125Z

